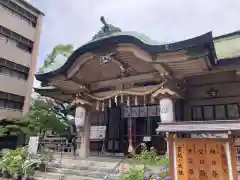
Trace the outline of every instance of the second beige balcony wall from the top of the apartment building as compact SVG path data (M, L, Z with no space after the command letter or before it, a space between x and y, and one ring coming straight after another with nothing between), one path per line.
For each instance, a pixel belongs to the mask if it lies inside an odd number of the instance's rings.
M1 58L26 67L31 66L31 54L18 48L16 42L10 40L7 41L7 39L0 36L0 49Z

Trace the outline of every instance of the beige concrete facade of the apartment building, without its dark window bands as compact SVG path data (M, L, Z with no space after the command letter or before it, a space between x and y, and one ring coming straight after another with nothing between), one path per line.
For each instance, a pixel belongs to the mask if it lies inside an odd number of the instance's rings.
M12 0L12 2L15 2L38 17L37 25L36 27L33 27L22 17L0 6L0 25L34 42L32 53L28 53L16 47L16 42L9 40L9 42L6 43L4 38L0 39L0 57L30 68L27 81L0 74L0 91L25 97L23 113L19 113L17 110L16 112L15 110L11 110L10 112L13 116L21 116L28 112L31 94L33 92L32 86L34 82L34 74L36 72L43 15L39 14L37 10L34 10L34 8L28 6L21 0ZM8 113L0 111L0 117L3 116L7 117Z

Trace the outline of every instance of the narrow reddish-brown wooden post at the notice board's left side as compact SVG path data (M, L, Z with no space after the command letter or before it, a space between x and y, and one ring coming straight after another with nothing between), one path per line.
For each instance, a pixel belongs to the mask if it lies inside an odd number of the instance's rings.
M168 137L167 137L167 145L168 145L168 156L169 156L169 175L170 175L170 179L174 180L175 179L175 174L174 174L174 139L173 139L173 135L174 133L168 133Z

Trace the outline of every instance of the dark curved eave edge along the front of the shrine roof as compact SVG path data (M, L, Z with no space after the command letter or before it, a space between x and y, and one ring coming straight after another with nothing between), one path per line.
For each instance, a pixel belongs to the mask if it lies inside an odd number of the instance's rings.
M175 42L171 44L164 44L164 45L149 45L149 44L145 44L144 42L137 39L136 37L129 36L129 35L119 35L119 36L112 36L105 39L93 41L84 46L81 46L80 48L78 48L76 51L73 52L73 54L68 58L68 60L63 66L47 73L35 74L35 77L39 81L45 81L50 77L59 75L61 73L65 73L80 55L82 55L85 52L89 52L94 49L100 48L103 44L109 44L109 43L110 44L119 44L119 43L133 44L149 53L173 52L173 51L179 51L182 49L188 49L190 47L194 47L198 45L209 44L210 45L209 48L212 53L211 56L213 56L213 58L215 54L212 32L208 32L201 36L187 39L184 41ZM210 58L211 63L214 63L213 58Z

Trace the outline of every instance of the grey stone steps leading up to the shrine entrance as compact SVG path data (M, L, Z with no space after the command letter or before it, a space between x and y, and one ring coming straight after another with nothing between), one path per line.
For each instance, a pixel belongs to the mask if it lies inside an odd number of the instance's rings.
M49 165L47 172L36 172L36 179L42 180L102 180L106 174L113 171L119 163L119 158L90 157L80 159L78 157L62 157L61 161L56 161ZM108 180L117 180L123 166L117 167L111 173ZM42 178L42 179L41 179Z

